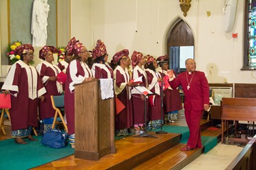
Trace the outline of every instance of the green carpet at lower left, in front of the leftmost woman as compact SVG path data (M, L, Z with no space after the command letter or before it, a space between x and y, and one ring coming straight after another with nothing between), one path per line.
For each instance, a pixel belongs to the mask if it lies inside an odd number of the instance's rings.
M70 144L65 148L55 149L44 146L40 142L42 136L39 135L34 138L38 141L26 139L27 145L17 144L14 139L0 141L1 169L31 169L74 154L74 149L71 148Z

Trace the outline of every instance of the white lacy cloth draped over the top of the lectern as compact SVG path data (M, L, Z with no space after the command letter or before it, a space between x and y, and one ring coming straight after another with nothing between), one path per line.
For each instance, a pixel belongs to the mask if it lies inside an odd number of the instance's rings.
M113 79L112 78L100 79L100 90L101 90L101 99L109 99L114 97Z

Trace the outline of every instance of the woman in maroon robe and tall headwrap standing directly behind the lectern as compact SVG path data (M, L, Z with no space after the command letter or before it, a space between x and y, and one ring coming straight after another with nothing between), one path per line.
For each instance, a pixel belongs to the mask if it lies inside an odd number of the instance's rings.
M92 73L85 63L89 56L87 48L79 40L73 37L68 43L68 52L72 53L73 61L70 62L66 70L67 80L65 89L65 112L68 126L70 144L74 144L74 84L93 80Z

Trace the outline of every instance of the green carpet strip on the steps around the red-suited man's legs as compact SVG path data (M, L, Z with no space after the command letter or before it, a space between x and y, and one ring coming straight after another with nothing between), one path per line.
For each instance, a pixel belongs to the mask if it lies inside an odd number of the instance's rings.
M154 129L152 131L160 131L160 129ZM162 131L166 131L167 133L181 133L182 139L180 143L187 143L189 137L189 130L188 126L171 126L171 125L164 125L162 126ZM209 137L209 136L201 136L202 145L205 147L204 153L206 154L212 148L214 148L217 143L217 137Z

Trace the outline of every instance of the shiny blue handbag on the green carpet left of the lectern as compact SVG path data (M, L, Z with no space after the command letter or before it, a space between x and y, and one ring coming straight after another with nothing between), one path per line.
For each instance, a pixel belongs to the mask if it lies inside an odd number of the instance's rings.
M51 148L63 148L67 146L67 134L58 129L49 129L44 133L41 143Z

